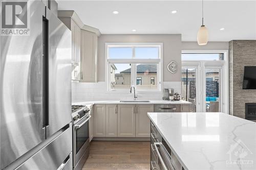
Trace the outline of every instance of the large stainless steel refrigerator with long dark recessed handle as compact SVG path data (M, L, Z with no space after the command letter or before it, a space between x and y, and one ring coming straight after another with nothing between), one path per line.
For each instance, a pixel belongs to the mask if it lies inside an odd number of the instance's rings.
M1 169L72 169L71 31L27 9L30 35L0 39Z

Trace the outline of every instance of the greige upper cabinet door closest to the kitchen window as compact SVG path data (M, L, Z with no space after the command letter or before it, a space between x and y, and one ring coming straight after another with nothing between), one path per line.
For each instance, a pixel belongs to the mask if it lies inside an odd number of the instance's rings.
M96 33L81 30L81 81L97 82L97 44Z

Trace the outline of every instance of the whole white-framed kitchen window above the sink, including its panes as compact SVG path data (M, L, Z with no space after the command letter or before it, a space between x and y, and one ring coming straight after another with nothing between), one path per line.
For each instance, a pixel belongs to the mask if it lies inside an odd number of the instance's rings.
M161 91L162 43L106 43L108 91Z

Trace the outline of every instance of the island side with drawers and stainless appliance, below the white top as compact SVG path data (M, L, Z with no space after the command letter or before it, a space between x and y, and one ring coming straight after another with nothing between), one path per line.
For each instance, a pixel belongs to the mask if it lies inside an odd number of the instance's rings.
M183 167L164 138L151 122L151 169L183 170Z

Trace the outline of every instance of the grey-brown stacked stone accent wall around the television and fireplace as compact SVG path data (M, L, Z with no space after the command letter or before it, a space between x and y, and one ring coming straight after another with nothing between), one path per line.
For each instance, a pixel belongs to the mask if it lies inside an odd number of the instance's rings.
M256 89L243 90L244 66L256 66L256 40L229 42L229 114L245 118L245 103L256 103Z

